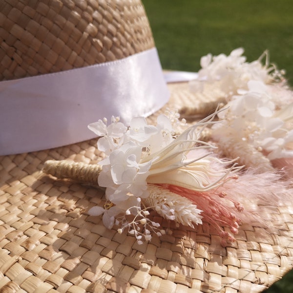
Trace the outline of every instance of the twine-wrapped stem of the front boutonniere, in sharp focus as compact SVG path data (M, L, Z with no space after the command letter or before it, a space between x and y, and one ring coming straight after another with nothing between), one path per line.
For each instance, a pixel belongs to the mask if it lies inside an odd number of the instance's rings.
M98 164L85 164L73 161L54 161L45 162L43 171L57 178L67 178L84 182L88 184L98 185L99 173L102 166Z

